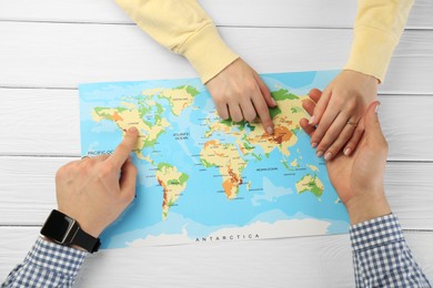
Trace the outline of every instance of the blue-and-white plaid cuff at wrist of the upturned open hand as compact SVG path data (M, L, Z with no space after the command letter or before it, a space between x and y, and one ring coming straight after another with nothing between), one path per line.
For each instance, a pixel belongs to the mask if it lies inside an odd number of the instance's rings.
M349 233L354 251L404 241L399 219L393 214L353 225Z

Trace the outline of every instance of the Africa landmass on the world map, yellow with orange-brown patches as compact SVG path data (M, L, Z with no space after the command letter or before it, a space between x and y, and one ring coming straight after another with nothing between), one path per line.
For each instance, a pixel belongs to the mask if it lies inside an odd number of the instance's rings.
M241 173L248 164L239 154L235 145L222 144L216 140L209 141L200 152L200 158L205 167L220 168L226 198L235 198L239 186L242 184Z

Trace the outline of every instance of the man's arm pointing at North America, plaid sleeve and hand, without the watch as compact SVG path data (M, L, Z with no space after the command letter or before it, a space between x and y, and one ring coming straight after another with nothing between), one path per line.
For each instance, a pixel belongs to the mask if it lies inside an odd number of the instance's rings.
M137 137L137 128L130 128L112 155L84 157L57 173L59 212L75 219L94 238L134 198L137 168L129 154ZM24 261L9 274L1 287L71 287L87 254L81 247L38 238Z

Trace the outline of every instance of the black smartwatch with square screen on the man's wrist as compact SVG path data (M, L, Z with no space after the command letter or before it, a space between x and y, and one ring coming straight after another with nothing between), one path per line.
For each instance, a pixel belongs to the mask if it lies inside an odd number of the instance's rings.
M41 235L60 245L77 245L89 253L98 251L101 246L101 240L82 230L75 219L56 209L43 224Z

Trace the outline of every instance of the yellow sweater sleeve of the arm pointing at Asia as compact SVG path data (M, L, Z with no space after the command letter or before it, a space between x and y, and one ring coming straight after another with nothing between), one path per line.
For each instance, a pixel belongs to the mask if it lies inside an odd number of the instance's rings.
M115 0L157 42L184 55L203 83L239 58L195 0Z

